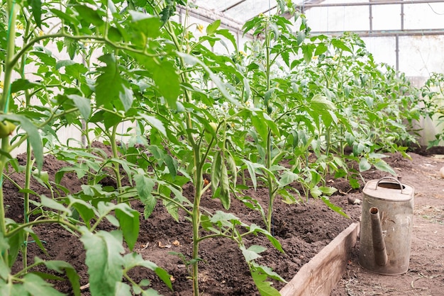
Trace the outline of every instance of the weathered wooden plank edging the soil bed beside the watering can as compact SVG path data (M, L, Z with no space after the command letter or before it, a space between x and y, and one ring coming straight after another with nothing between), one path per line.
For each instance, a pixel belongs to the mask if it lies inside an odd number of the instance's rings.
M280 290L282 296L328 296L345 272L350 249L360 231L358 222L335 237L309 263L299 269L294 278Z

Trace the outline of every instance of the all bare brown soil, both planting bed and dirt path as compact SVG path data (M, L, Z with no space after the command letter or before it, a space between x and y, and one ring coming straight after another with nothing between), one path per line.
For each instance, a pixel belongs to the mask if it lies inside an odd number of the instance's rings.
M443 199L444 179L438 176L444 159L435 156L421 156L410 153L411 160L404 159L400 154L391 154L386 160L404 183L415 187L415 228L412 243L411 267L406 275L379 276L362 271L357 264L359 245L350 254L348 271L338 284L332 295L442 295L444 288L443 271ZM18 156L24 161L24 156ZM52 156L45 159L44 170L54 173L66 164ZM363 173L365 181L387 176L381 171ZM23 185L23 176L13 173L11 177ZM67 175L62 185L77 192L81 182L74 176ZM262 236L245 238L245 245L258 244L267 247L262 258L257 262L269 266L286 280L291 280L299 268L326 246L352 222L360 220L360 205L351 205L348 199L362 198L360 190L351 190L348 181L343 179L329 180L329 185L338 188L343 194L333 195L331 202L343 208L350 217L345 218L328 209L321 200L309 199L299 205L287 205L279 199L274 205L273 234L285 251L280 253ZM362 184L363 185L363 184ZM33 183L33 190L46 193L38 183ZM184 195L192 192L192 187L184 187ZM265 188L247 190L245 195L266 204L268 193ZM4 183L8 217L23 220L23 200L21 194L10 181ZM135 209L143 212L143 205L132 204ZM209 196L203 198L201 206L209 212L221 210L218 200ZM239 200L233 200L230 212L233 212L247 224L258 224L265 227L258 212L249 210ZM143 217L143 215L141 215ZM104 225L104 227L108 227ZM38 246L29 244L28 257L30 262L34 256L44 259L56 259L70 262L81 277L81 285L88 283L87 267L84 265L84 247L77 237L62 227L42 225L34 227L40 239L45 241L48 254L45 256ZM201 295L258 295L248 266L238 246L228 239L207 239L201 243L201 261L199 262L199 283ZM177 256L183 254L190 258L192 253L192 228L184 215L175 222L159 203L148 220L140 220L140 235L135 251L144 258L157 263L172 275L174 291L170 291L150 271L138 268L133 271L133 278L138 281L150 279L152 288L162 295L191 295L192 281L186 262ZM55 282L58 290L70 293L65 282ZM278 290L284 283L274 282ZM438 293L439 292L439 293ZM89 290L82 290L82 295L89 295Z

